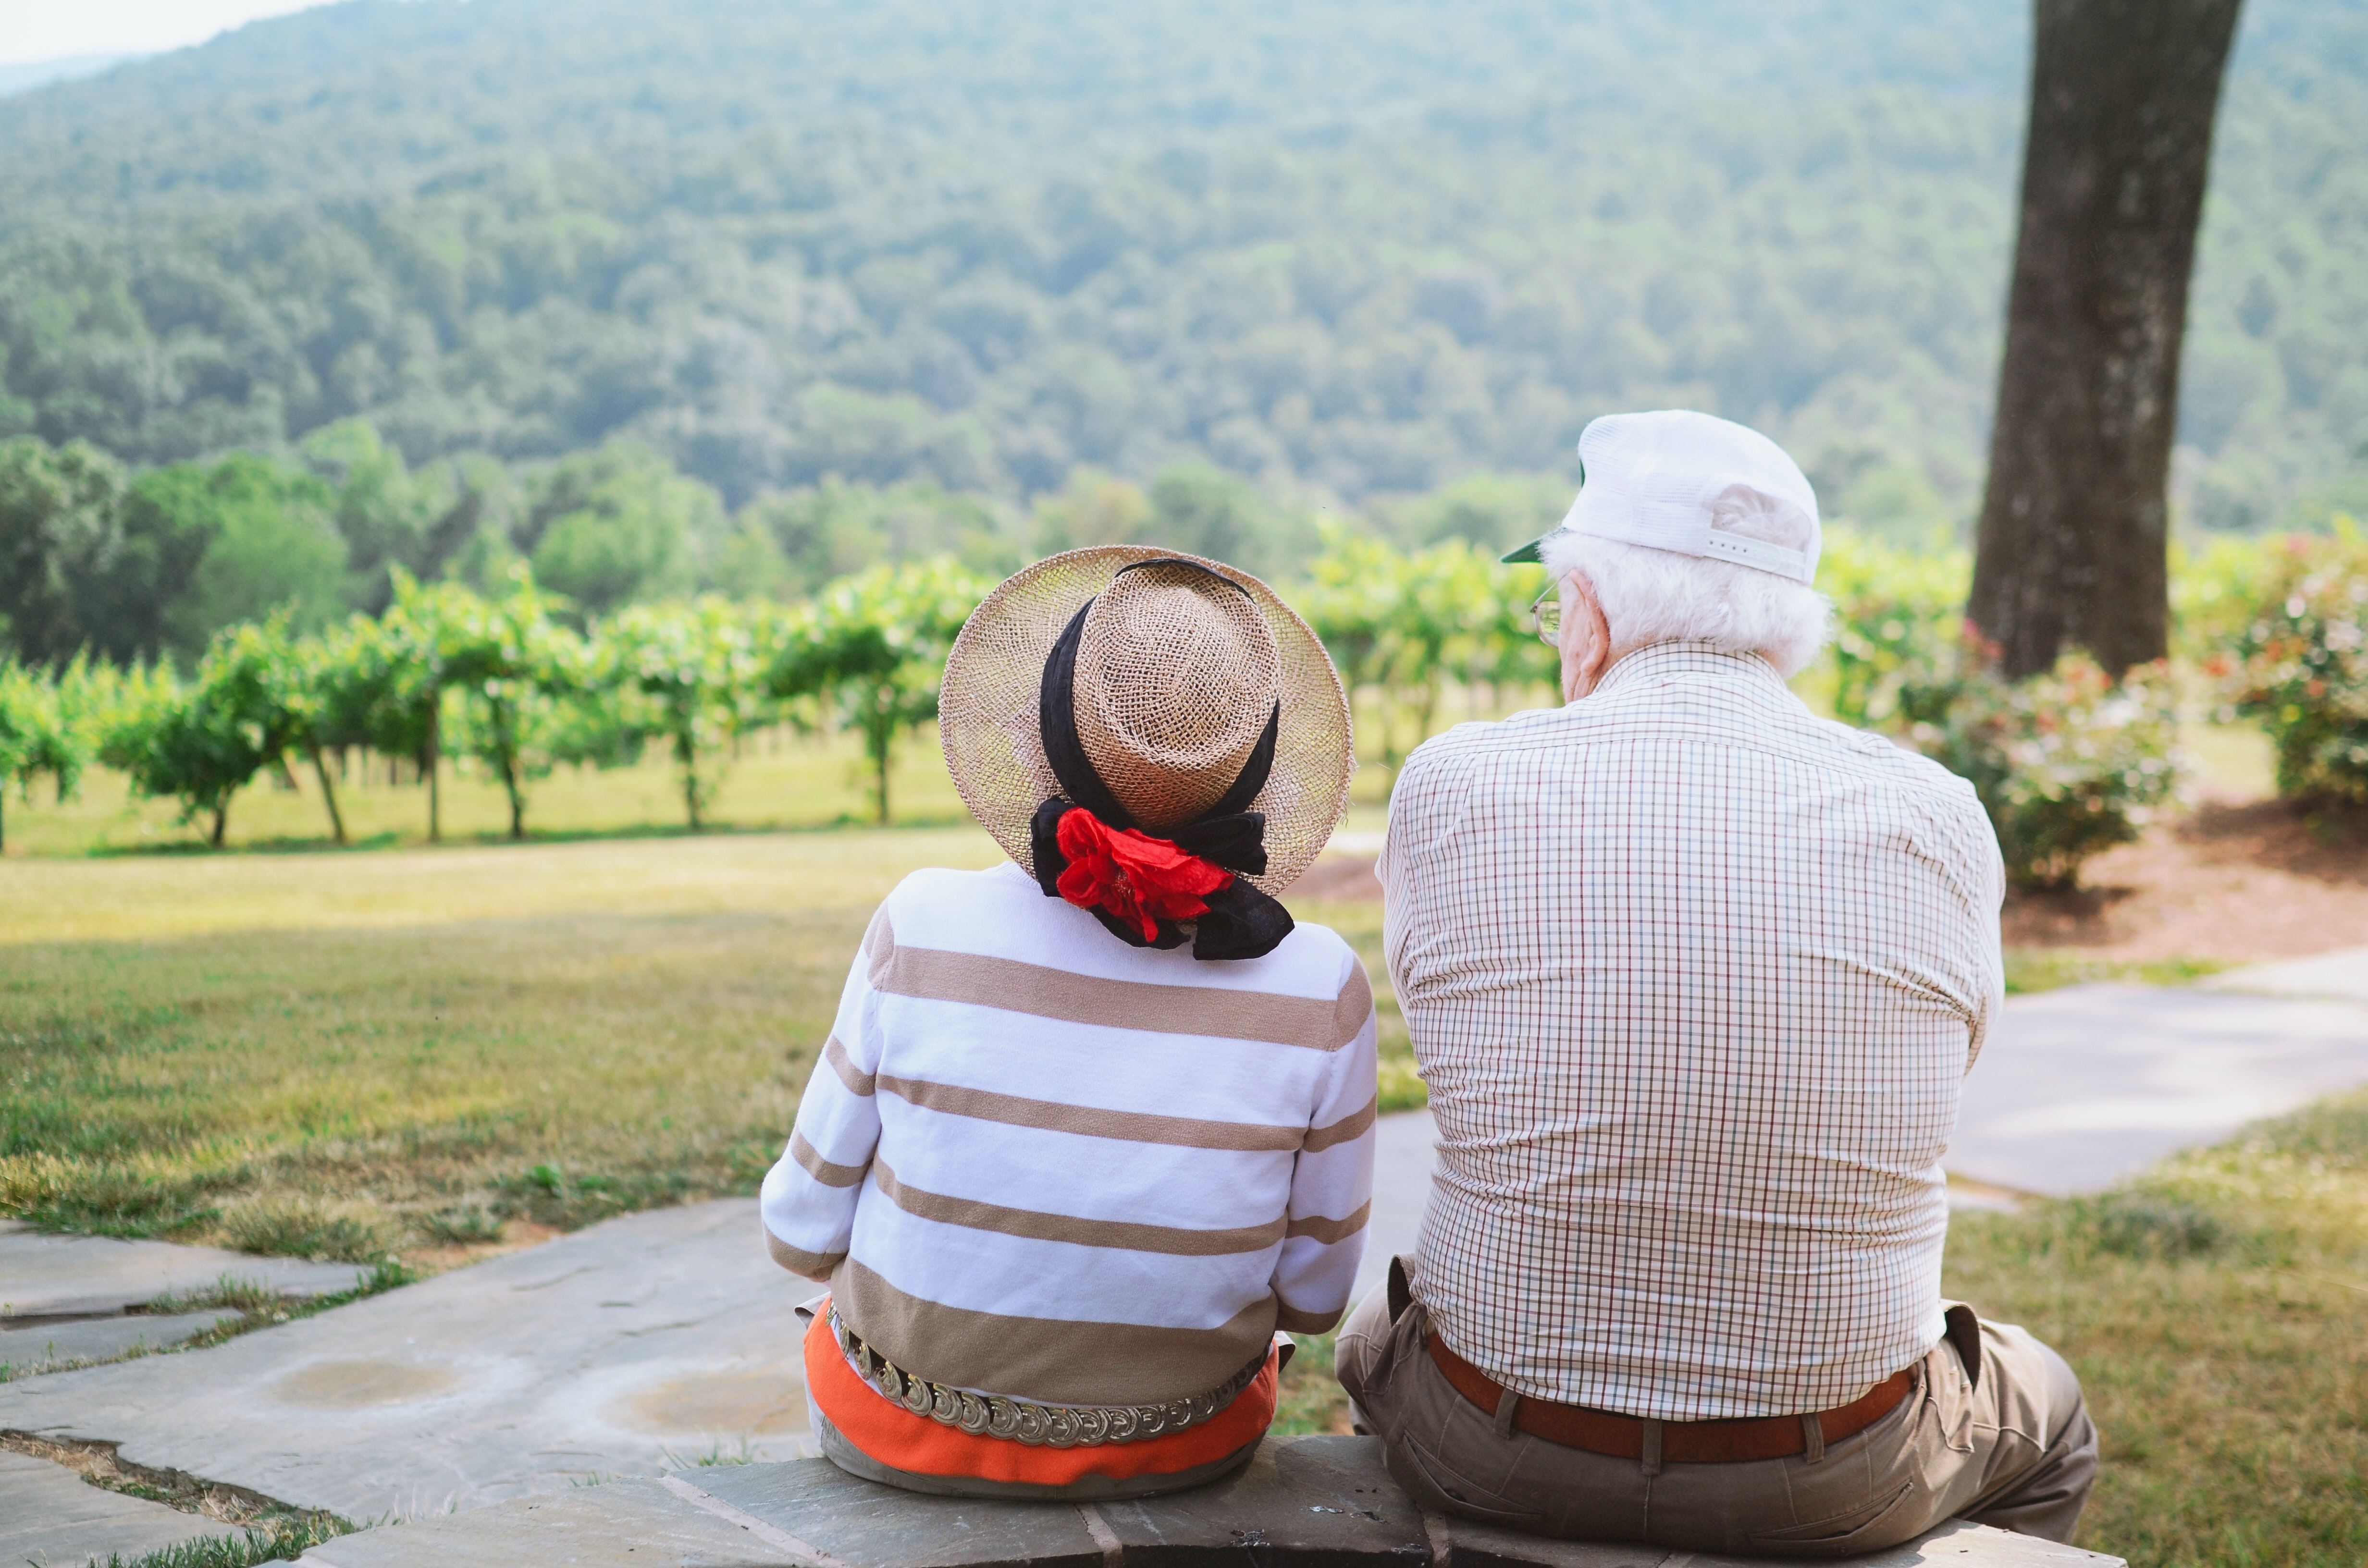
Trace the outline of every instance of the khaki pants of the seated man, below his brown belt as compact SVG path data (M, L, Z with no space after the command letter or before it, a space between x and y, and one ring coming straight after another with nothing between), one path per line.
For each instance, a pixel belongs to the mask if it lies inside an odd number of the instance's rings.
M1847 1556L1949 1518L2070 1540L2096 1480L2096 1426L2072 1369L1968 1307L1951 1307L1951 1334L1918 1362L1909 1397L1821 1457L1646 1469L1499 1428L1430 1360L1423 1305L1392 1322L1388 1298L1373 1291L1340 1326L1336 1367L1390 1473L1440 1514L1563 1540ZM1980 1345L1977 1376L1958 1338Z

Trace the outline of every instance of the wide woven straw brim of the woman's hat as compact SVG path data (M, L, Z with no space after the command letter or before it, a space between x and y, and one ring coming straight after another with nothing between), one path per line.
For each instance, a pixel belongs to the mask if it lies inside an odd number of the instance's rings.
M1281 893L1314 865L1347 812L1354 732L1340 673L1314 630L1272 587L1224 561L1153 545L1096 545L1006 578L971 611L945 661L938 687L945 770L978 824L1032 874L1028 824L1040 803L1061 793L1037 727L1044 658L1070 616L1139 561L1193 561L1238 583L1274 632L1281 722L1274 772L1250 805L1267 815L1267 872L1246 881Z

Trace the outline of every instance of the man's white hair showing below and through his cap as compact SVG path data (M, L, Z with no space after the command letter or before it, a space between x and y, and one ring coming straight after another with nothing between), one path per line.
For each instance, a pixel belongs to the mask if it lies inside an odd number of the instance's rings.
M1785 550L1816 547L1814 521L1793 507L1755 505L1764 500L1752 490L1722 495L1710 514L1712 531ZM1594 587L1613 656L1650 642L1707 642L1729 654L1759 654L1790 677L1816 658L1833 630L1826 595L1755 566L1587 533L1546 535L1542 554L1556 583L1579 573Z

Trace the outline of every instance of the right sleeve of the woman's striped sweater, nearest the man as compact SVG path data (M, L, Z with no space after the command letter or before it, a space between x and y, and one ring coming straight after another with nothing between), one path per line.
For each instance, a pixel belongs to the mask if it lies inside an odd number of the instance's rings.
M1373 1215L1373 988L1354 955L1340 983L1340 1011L1357 1021L1357 1033L1324 1063L1307 1142L1291 1175L1283 1253L1274 1262L1274 1322L1291 1334L1324 1334L1340 1322Z

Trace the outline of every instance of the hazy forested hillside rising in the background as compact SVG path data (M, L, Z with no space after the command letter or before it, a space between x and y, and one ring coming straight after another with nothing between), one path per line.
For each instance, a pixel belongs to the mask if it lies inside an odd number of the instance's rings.
M2025 52L2020 0L353 0L0 99L0 436L1362 502L1686 403L1963 521ZM2368 5L2254 0L2193 521L2368 497L2363 147Z

